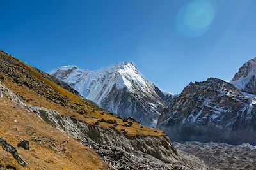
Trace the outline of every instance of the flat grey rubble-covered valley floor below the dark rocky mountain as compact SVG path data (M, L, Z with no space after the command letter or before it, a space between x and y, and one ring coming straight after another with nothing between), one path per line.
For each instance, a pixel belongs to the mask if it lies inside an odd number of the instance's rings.
M182 152L191 153L204 160L205 164L212 169L256 169L256 146L248 143L228 145L213 142L175 142L173 145Z

